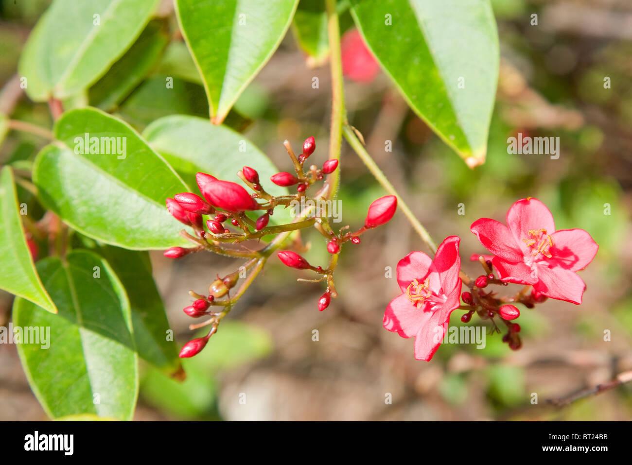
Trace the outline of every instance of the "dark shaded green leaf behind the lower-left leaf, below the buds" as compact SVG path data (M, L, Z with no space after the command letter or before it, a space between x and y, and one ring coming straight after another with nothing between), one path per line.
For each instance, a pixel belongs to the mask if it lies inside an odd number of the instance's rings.
M112 246L97 251L125 287L138 356L169 375L177 373L181 368L178 350L173 339L167 341L171 328L152 276L149 254Z

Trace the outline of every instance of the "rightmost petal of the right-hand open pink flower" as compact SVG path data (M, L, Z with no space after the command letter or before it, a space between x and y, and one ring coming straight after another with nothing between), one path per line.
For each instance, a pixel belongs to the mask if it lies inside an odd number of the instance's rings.
M585 269L597 254L599 245L583 229L561 229L551 235L553 246L549 252L553 255L548 261L566 270Z

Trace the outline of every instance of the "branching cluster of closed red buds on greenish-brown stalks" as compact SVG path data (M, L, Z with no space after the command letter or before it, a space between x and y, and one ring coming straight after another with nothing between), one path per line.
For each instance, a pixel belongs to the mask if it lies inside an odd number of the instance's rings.
M222 181L210 174L198 172L196 181L202 196L184 192L166 200L169 213L179 222L192 227L195 235L189 234L185 230L181 231L181 234L189 239L194 246L191 248L171 247L164 252L165 257L181 258L190 253L204 250L246 259L246 262L238 270L224 277L217 275L217 279L210 282L208 293L200 294L193 290L189 292L195 301L183 309L186 315L192 318L209 317L203 323L191 325L191 329L210 326L210 330L204 337L198 337L186 343L180 351L181 358L192 357L204 349L207 341L217 332L219 323L231 310L236 299L252 284L252 279L246 278L236 296L231 298L230 291L240 281L241 270L248 272L253 267L262 266L264 263L262 258L270 255L276 245L273 240L259 250L250 250L240 246L245 241L260 239L264 236L279 236L307 227L314 227L319 231L327 241L327 251L331 254L329 265L326 268L320 265L317 267L310 265L305 258L291 250L279 251L277 257L290 268L312 270L317 274L316 279L300 279L300 281L325 282L327 288L318 301L318 309L323 311L329 306L331 299L337 297L334 272L338 263L338 254L343 249L344 244L349 242L360 244L361 234L368 229L385 224L395 214L397 197L387 195L375 200L368 207L365 224L356 231L348 231L349 226L344 226L337 232L334 231L326 208L314 208L312 211L302 212L302 217L297 217L295 221L288 224L268 226L270 216L274 215L274 210L277 207L288 208L293 202L300 202L301 200L309 200L312 201L311 205L316 205L316 202L323 198L323 195L329 190L329 184L325 182L313 197L309 195L308 189L317 181L323 180L325 175L336 171L338 167L338 160L330 159L325 161L321 168L311 165L307 170L305 169L305 162L316 148L316 141L313 136L308 137L303 142L303 151L298 157L288 141L284 142L284 145L293 164L294 174L277 172L270 177L270 181L282 187L296 186L296 193L293 195L270 195L265 190L264 183L259 179L257 170L245 166L238 172L238 176L253 191L252 194L248 193L240 184ZM308 202L304 204L310 205ZM256 220L253 220L246 215L246 212L260 212L261 214ZM204 220L204 217L207 219Z

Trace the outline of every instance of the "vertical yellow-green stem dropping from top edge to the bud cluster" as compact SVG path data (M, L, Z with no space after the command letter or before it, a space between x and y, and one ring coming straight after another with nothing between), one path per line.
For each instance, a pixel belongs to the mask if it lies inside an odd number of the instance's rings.
M329 63L331 66L331 130L329 131L329 159L340 160L340 148L343 142L344 82L343 61L340 52L340 27L336 0L326 0L327 7L327 35L329 38ZM335 198L340 183L340 167L327 176L330 184L329 198Z

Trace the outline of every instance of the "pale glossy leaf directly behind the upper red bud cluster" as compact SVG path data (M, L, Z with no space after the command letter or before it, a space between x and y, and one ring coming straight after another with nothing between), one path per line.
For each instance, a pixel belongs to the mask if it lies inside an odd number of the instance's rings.
M237 172L243 166L251 166L258 171L266 191L273 195L288 193L286 188L267 181L279 172L267 155L225 126L214 126L207 119L194 116L175 115L154 121L145 128L143 136L195 190L198 171L241 183ZM284 150L283 146L279 149Z

